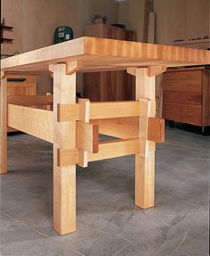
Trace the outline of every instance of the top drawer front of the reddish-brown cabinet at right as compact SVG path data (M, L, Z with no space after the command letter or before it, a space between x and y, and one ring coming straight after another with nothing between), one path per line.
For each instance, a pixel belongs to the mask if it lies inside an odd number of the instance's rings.
M201 79L164 80L164 91L201 93Z

